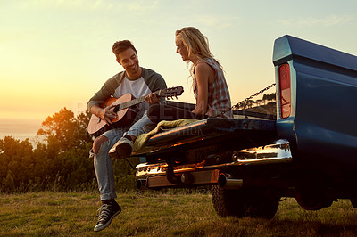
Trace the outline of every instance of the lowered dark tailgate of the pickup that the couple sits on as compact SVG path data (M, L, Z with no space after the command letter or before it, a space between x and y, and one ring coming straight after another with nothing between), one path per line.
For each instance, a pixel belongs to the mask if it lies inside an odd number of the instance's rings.
M198 162L200 157L204 159L210 152L240 150L275 140L275 120L208 118L153 135L146 142L145 149L133 155L145 156L149 161L159 157L165 160L173 157L185 159L187 152L194 152L192 162Z

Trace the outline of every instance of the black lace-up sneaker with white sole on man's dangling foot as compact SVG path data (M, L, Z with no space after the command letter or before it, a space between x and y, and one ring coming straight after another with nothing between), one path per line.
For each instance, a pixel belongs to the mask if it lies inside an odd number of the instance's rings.
M103 204L99 208L98 223L95 225L95 232L99 232L112 223L112 219L118 216L121 212L121 208L116 201L112 204Z

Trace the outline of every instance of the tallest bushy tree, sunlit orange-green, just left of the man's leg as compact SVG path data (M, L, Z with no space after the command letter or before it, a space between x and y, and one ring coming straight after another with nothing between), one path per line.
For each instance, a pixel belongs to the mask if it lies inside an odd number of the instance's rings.
M39 151L36 154L42 153L43 164L49 164L46 182L56 191L91 184L95 178L93 160L88 159L93 143L93 138L87 133L89 118L88 110L75 118L71 110L63 108L54 116L47 117L37 132L37 135L45 137L47 144L45 150L37 146Z

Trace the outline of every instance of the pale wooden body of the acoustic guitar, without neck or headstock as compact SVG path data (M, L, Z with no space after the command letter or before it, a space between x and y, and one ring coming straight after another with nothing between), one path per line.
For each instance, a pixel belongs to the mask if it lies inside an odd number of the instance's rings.
M130 102L133 99L133 95L127 93L121 95L118 99L113 97L109 98L101 104L100 107L105 108L111 105L118 105L123 102ZM114 110L114 108L112 110ZM97 137L115 127L129 127L137 116L137 108L133 106L123 110L118 110L116 113L118 118L112 119L112 125L107 125L104 120L99 119L96 115L92 114L87 127L88 133Z

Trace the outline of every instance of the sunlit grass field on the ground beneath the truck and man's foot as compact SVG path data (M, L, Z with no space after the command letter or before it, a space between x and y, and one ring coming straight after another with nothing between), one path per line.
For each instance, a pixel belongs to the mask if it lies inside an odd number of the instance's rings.
M280 202L272 220L218 217L209 193L119 194L122 212L94 233L96 193L0 194L0 236L356 236L357 209L349 200L305 211L294 199Z

